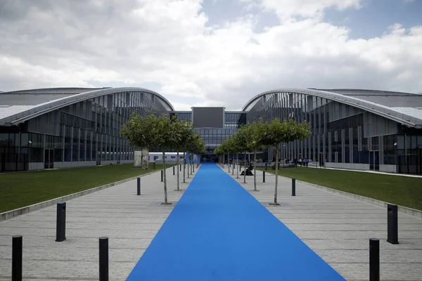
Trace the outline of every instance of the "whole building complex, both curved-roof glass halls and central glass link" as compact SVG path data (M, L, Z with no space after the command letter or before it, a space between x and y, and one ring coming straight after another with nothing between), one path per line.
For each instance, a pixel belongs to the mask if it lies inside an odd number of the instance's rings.
M223 108L223 107L222 107ZM39 89L0 93L0 171L132 162L120 127L137 110L192 121L160 94L139 88ZM422 174L422 95L294 89L261 93L219 127L195 128L207 155L241 124L262 117L309 122L312 135L280 144L280 160L312 159L333 168ZM260 155L275 160L274 148Z

